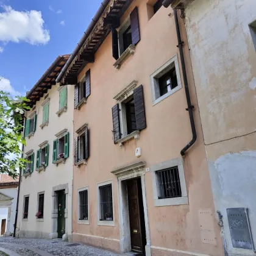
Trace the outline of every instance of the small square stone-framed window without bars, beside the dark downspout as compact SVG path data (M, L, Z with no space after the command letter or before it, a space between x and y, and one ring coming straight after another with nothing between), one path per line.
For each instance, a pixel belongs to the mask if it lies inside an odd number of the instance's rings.
M182 88L177 55L151 75L153 105Z

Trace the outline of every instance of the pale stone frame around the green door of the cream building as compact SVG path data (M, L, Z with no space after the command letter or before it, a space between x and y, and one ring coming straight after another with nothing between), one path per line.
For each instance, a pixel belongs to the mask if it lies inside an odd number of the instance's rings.
M66 194L66 207L65 207L65 233L67 233L68 227L68 183L57 185L52 188L52 233L51 239L58 238L58 192L65 190Z

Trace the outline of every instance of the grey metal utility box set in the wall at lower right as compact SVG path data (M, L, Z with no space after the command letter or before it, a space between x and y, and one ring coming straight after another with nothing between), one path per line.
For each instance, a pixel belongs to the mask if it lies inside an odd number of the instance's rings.
M254 250L248 208L227 208L233 247Z

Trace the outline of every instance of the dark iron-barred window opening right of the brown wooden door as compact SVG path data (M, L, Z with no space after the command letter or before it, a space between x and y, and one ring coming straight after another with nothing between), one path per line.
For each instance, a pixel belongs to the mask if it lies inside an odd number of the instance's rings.
M157 171L158 199L182 196L178 166Z

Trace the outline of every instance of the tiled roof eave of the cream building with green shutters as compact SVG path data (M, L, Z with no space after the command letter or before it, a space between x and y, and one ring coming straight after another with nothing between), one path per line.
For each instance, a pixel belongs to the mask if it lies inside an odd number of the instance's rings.
M37 84L27 93L26 98L30 99L28 105L32 107L37 101L47 93L48 89L52 88L52 85L56 84L56 78L62 71L63 66L66 64L70 57L70 54L59 55L54 60L51 66L44 72L43 76L38 80Z

